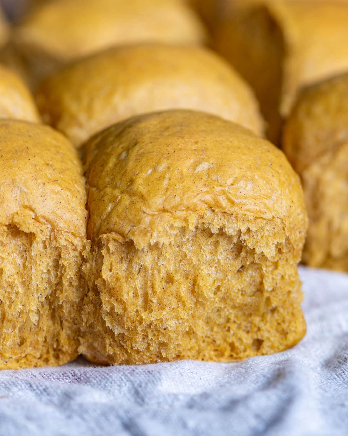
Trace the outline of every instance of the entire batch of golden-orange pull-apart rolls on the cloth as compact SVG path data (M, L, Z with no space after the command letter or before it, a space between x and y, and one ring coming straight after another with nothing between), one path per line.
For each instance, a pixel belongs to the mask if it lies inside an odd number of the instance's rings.
M0 368L297 344L298 263L348 271L348 3L42 3L33 95L0 67Z

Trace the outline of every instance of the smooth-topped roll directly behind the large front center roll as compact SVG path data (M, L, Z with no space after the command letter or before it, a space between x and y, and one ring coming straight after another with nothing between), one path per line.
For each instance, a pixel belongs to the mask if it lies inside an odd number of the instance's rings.
M36 93L43 119L77 146L122 119L164 109L197 109L263 133L249 86L205 48L117 47L70 65Z

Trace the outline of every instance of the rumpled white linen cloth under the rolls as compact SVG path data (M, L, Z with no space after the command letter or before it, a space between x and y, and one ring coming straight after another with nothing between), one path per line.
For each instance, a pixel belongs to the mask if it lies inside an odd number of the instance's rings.
M291 350L0 371L0 435L347 436L348 275L301 267L308 332Z

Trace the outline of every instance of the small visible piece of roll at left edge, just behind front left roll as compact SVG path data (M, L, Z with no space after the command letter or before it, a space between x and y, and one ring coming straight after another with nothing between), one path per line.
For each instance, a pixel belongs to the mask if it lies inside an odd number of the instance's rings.
M39 122L37 107L27 86L8 68L0 65L0 118Z

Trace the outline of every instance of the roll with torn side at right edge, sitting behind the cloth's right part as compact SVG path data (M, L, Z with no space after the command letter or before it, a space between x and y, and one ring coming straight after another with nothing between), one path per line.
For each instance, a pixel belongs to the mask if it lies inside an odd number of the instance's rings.
M303 260L348 272L348 74L306 89L284 127L309 215Z

